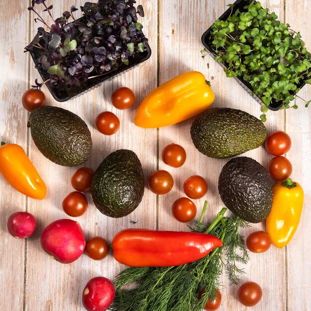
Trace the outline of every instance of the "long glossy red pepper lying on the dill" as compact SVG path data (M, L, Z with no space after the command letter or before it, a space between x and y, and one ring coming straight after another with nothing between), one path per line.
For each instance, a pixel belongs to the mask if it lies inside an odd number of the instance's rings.
M112 240L114 258L131 267L179 266L206 256L223 246L205 233L126 229Z

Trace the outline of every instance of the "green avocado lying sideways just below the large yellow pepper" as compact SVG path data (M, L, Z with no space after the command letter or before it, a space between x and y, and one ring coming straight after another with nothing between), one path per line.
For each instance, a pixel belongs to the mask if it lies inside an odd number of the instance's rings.
M227 158L258 148L265 141L267 130L259 119L247 112L212 108L193 121L190 134L202 154Z

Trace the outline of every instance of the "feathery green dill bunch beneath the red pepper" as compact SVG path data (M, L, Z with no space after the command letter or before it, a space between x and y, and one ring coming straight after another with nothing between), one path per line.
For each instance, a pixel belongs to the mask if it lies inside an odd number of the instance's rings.
M219 237L224 246L207 256L180 266L130 267L115 281L116 296L111 311L201 311L208 299L222 287L220 277L225 266L231 284L239 281L243 269L237 263L248 261L247 249L238 233L246 223L235 215L225 217L223 208L208 226L202 224L207 202L194 232ZM129 288L129 286L131 286Z

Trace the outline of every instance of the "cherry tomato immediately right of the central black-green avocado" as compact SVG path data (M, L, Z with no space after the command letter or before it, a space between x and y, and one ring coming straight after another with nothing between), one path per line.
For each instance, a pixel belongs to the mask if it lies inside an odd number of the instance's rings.
M172 190L174 179L166 170L156 170L148 178L149 189L156 194L165 194Z

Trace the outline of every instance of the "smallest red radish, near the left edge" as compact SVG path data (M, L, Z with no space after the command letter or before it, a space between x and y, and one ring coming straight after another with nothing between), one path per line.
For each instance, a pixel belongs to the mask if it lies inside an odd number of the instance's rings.
M36 230L36 220L27 212L14 213L7 220L7 230L16 238L28 237Z

